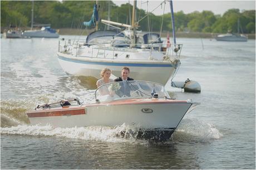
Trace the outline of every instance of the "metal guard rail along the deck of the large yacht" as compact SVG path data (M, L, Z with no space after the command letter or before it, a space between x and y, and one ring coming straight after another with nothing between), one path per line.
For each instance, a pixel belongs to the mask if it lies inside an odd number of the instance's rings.
M72 42L72 43L71 43ZM179 59L183 44L168 44L168 43L150 43L150 44L135 44L130 47L129 43L86 43L85 41L73 41L72 39L60 39L58 43L58 52L71 54L76 57L91 57L97 58L99 53L106 58L106 53L111 51L112 59L116 59L116 53L149 53L149 59L155 53L163 54L163 60ZM81 53L86 48L90 48L90 56L83 56ZM82 51L82 52L81 52ZM127 57L126 57L127 58Z

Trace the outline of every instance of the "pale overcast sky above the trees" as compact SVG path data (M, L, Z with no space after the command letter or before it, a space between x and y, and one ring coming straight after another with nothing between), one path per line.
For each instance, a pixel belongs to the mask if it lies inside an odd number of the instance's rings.
M129 1L113 1L117 6L121 6L121 4L128 3ZM130 3L133 4L134 1L130 0ZM148 8L151 12L155 9L159 4L163 1L149 1ZM137 1L137 8L144 9L147 11L147 1ZM202 12L204 10L212 11L214 14L223 14L228 11L228 9L237 8L240 9L240 12L243 10L255 10L255 0L254 1L173 1L174 12L183 11L184 13L191 13L194 11ZM157 9L155 9L155 15L163 14L164 5ZM166 3L165 13L170 12L170 4Z

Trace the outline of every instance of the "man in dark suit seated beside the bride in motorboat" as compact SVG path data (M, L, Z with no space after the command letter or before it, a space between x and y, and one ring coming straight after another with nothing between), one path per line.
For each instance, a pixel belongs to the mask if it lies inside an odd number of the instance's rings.
M129 84L127 83L127 81L134 80L133 78L129 77L129 74L130 74L130 69L128 67L123 67L122 72L121 72L121 77L116 78L114 80L115 82L124 82L124 83L120 83L120 85L121 85L120 91L122 93L124 93L125 96L128 96L128 97L130 97L131 94L130 94L130 87L129 87ZM121 95L121 96L123 96L123 95Z

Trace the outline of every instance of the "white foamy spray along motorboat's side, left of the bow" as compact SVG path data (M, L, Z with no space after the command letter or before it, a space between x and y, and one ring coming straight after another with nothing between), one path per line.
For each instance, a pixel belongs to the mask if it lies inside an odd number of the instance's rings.
M64 137L72 139L83 139L87 141L102 141L102 142L135 142L132 136L121 138L120 134L125 129L129 128L123 124L114 128L103 126L90 127L73 127L73 128L54 128L48 126L29 126L18 125L13 127L1 128L1 134L23 134L31 136L51 136Z

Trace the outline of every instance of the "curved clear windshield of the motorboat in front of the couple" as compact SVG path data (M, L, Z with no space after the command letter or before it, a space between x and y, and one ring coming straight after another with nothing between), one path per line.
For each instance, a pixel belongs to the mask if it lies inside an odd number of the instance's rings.
M113 101L122 98L169 98L164 86L159 83L146 81L126 81L103 84L95 91L95 98L100 102Z

